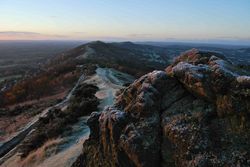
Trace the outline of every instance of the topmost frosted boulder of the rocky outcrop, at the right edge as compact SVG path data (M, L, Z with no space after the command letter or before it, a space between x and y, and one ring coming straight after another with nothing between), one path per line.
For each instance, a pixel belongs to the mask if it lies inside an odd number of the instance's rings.
M220 115L250 112L249 77L241 76L227 60L192 50L178 57L166 72L190 93L215 103Z

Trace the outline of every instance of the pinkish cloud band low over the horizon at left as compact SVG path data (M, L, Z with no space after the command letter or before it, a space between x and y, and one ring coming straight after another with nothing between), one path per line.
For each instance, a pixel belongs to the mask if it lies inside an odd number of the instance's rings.
M67 39L68 36L57 34L42 34L29 31L0 31L2 40L50 40L50 39Z

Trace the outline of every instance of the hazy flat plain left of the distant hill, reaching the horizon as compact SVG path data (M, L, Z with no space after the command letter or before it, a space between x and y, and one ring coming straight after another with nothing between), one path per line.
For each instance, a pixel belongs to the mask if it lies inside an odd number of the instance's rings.
M0 82L36 70L47 59L78 46L77 41L0 41Z

